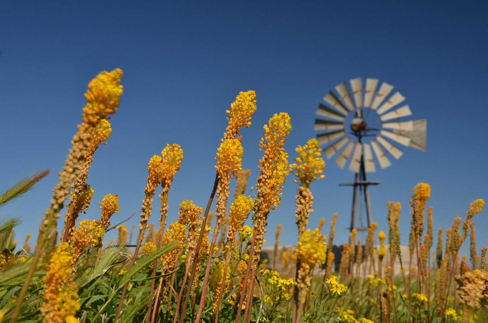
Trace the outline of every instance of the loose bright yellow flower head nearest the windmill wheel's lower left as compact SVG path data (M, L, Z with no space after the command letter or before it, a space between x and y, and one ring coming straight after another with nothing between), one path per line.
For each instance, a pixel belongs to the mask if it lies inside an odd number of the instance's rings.
M317 179L317 175L324 172L325 162L320 157L322 149L319 148L319 141L313 138L308 140L305 146L299 145L295 151L298 157L295 158L295 163L290 164L290 173L295 171L300 186L308 187ZM319 178L325 178L325 175L320 175Z

